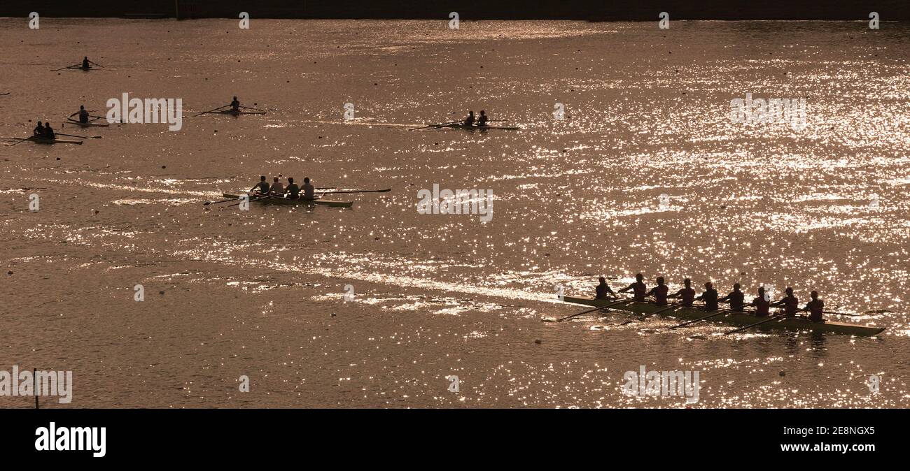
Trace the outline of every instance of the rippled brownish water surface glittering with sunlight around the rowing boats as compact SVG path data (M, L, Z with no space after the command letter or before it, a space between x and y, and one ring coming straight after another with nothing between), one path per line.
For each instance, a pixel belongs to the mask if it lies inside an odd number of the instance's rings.
M102 138L0 147L0 369L72 370L69 406L684 406L623 396L642 365L700 372L693 407L910 406L910 26L41 25L0 19L0 135ZM50 72L83 55L104 70ZM183 129L60 127L123 93L182 98ZM732 123L747 93L804 98L806 128ZM231 95L268 115L192 116ZM468 109L523 129L410 130ZM203 205L278 174L391 191ZM419 215L434 184L492 190L492 219ZM887 330L541 322L584 310L556 286L638 272L815 289Z

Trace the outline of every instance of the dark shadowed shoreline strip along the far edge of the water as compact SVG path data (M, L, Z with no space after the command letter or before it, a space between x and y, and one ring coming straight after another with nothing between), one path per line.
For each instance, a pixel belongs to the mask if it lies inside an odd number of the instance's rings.
M448 21L450 12L464 20L586 20L654 21L660 12L672 20L854 20L868 21L875 11L881 21L910 21L910 2L859 0L794 2L793 0L372 0L372 1L238 1L238 0L7 0L0 4L0 16L26 18L32 11L47 17L146 17L303 19L439 19Z

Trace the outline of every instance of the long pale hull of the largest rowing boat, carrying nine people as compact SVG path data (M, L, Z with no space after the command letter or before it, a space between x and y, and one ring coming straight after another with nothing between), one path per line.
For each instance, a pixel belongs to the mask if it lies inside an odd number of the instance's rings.
M581 297L565 296L563 300L567 303L574 303L585 306L606 306L615 301L609 299L585 299ZM636 314L651 314L669 306L657 306L653 303L627 303L619 306L612 306L611 309L619 309ZM710 311L705 311L697 307L682 307L671 311L663 311L660 316L676 317L679 319L694 320L700 317L710 315ZM734 326L749 326L768 317L753 316L748 313L729 313L712 317L712 321L733 324ZM812 332L827 332L830 334L846 334L848 336L875 336L885 330L884 327L860 326L858 324L846 324L843 322L825 321L813 322L804 316L784 317L782 320L766 322L755 328L771 328L784 330L809 330Z

